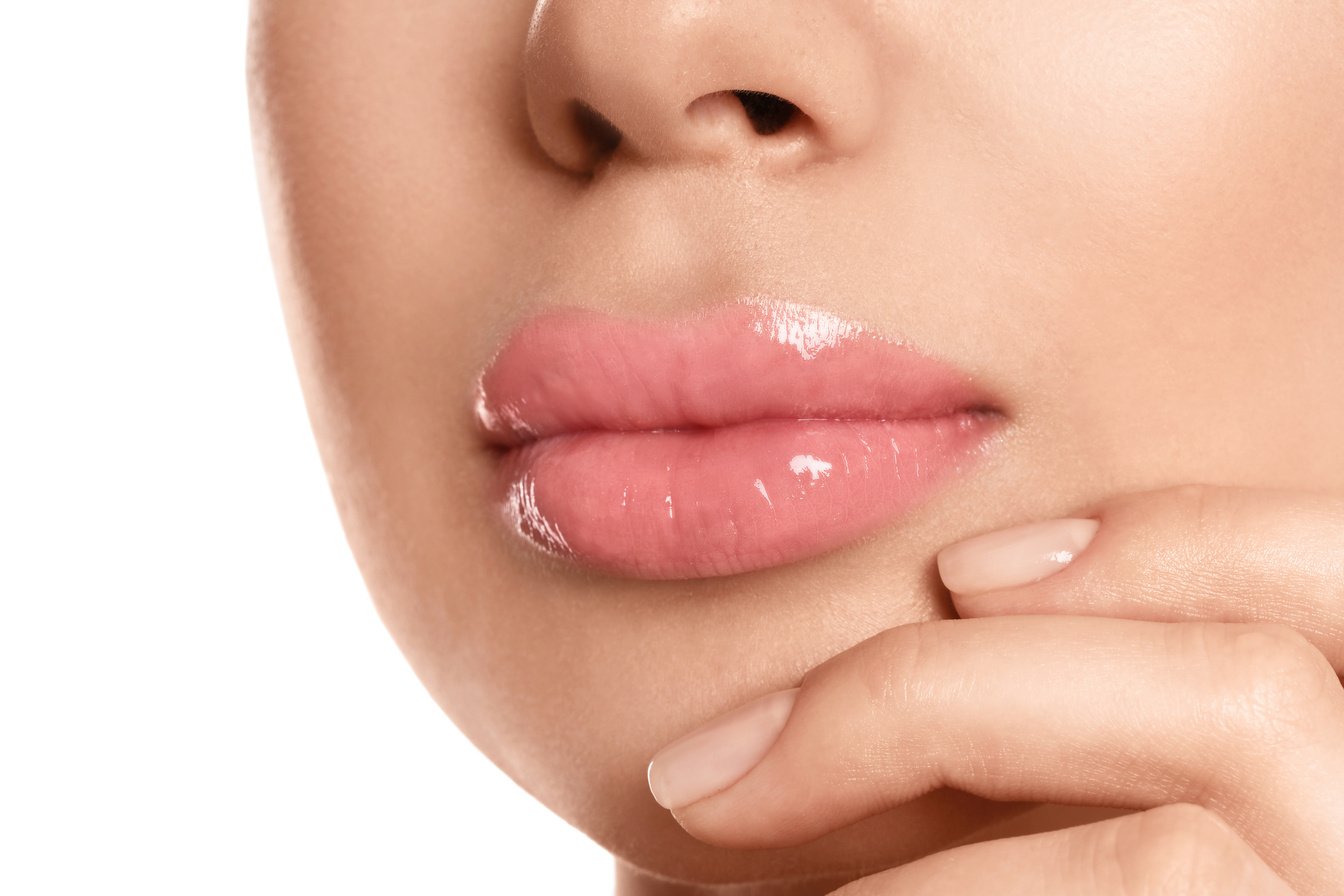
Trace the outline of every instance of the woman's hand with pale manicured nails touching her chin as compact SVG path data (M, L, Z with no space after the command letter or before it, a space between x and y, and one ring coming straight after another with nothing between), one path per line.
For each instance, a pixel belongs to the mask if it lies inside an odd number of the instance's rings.
M961 619L883 631L664 748L659 802L730 848L805 842L938 787L1140 810L950 849L847 896L1337 893L1344 501L1183 486L1079 516L942 551Z

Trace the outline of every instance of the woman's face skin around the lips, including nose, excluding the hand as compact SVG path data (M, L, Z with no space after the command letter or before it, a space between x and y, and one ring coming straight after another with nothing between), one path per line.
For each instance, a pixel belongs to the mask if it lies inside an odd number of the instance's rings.
M958 539L1179 482L1344 488L1340 47L1336 0L254 3L300 373L425 685L547 806L679 879L890 866L1021 813L937 791L738 853L685 834L645 766L949 615L933 557ZM761 134L731 90L797 111ZM993 438L863 537L735 575L521 537L476 412L507 337L749 297L964 371Z

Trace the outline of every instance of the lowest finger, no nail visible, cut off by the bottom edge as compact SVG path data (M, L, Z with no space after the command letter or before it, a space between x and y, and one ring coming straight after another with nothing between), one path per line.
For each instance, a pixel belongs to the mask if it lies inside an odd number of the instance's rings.
M831 896L1293 896L1227 823L1177 803L1030 837L960 846Z

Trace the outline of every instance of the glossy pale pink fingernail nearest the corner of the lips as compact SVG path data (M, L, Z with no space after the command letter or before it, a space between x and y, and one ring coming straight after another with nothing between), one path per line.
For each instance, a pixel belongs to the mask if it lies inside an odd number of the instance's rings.
M943 548L938 575L953 594L1040 582L1073 563L1099 527L1097 520L1047 520L980 535Z

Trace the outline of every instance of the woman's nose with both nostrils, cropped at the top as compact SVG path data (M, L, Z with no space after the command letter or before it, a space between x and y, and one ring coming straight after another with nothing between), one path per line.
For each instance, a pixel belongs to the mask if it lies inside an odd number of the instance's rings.
M856 154L882 107L868 5L540 0L524 56L532 129L585 175L613 157L788 168Z

